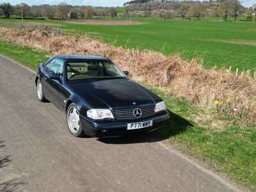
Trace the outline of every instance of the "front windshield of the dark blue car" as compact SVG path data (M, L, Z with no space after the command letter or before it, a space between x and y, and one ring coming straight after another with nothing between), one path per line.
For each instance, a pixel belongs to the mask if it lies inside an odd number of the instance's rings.
M86 79L120 78L124 74L109 61L79 61L67 63L69 81Z

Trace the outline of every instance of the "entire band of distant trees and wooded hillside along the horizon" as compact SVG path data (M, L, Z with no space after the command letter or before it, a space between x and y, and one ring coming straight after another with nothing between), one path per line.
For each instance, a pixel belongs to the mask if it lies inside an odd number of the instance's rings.
M134 1L132 1L134 2ZM137 1L136 1L137 2ZM71 6L61 3L58 5L42 4L28 6L22 3L12 6L10 3L0 4L0 16L9 18L10 15L19 17L45 17L47 19L92 19L93 17L159 17L159 19L195 19L202 17L222 17L227 20L241 15L252 19L255 8L245 8L238 0L209 0L209 1L168 1L166 3L139 3L124 6L123 13L117 8ZM255 6L256 7L256 6ZM255 18L254 18L255 19Z

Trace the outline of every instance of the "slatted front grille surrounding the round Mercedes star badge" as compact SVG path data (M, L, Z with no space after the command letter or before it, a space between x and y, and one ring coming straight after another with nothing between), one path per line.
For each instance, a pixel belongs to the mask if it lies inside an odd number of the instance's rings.
M133 114L134 109L141 110L141 117L136 118ZM142 106L138 108L131 109L115 109L114 110L117 120L139 120L141 118L147 118L155 115L155 105L151 104L148 106Z

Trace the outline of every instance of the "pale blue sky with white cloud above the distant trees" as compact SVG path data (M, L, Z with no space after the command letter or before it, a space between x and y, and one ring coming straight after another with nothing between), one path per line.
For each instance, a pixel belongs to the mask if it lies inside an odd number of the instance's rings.
M0 0L0 3L20 4L59 4L67 3L72 5L91 5L91 6L122 6L128 0ZM241 0L244 6L256 4L256 0Z

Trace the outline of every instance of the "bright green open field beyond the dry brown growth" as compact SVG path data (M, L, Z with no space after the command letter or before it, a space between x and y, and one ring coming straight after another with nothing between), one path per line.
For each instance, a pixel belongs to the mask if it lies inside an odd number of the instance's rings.
M31 20L60 25L70 31L100 37L104 42L129 48L179 54L186 60L203 59L207 68L256 68L256 22L138 19L139 26L68 24L60 20ZM21 22L0 19L0 26Z

